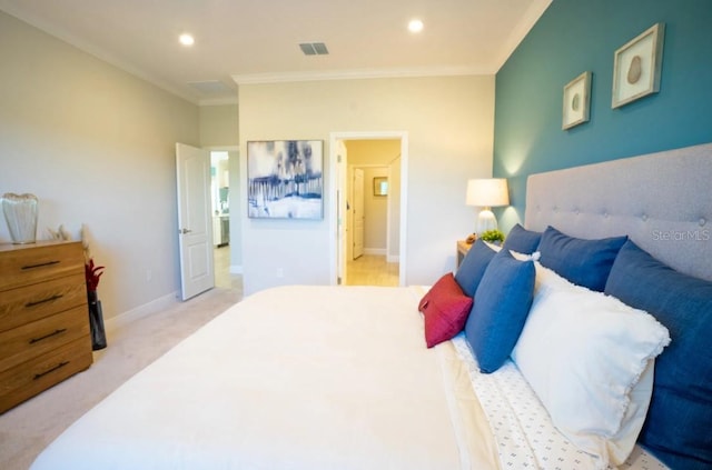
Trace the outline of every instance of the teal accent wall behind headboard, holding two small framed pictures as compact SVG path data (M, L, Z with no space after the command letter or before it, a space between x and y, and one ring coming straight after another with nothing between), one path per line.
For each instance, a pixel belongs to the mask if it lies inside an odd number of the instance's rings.
M616 49L665 23L660 92L611 108ZM589 122L562 130L563 88L593 72ZM526 177L712 141L712 1L554 0L500 69L495 177L510 181L506 231L524 218Z

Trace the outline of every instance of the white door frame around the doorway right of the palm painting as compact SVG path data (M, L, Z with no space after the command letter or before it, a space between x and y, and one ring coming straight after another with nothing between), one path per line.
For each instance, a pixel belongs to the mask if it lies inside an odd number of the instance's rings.
M330 239L330 280L332 284L339 283L339 279L344 276L345 270L345 230L346 221L346 167L347 161L338 161L339 141L344 140L399 140L400 141L400 233L398 250L398 284L406 283L407 267L407 194L408 194L408 132L406 131L364 131L364 132L330 132L329 134L329 173L330 184L329 199L333 203L329 207L329 220L332 237ZM348 158L348 157L347 157ZM340 241L340 242L339 242Z

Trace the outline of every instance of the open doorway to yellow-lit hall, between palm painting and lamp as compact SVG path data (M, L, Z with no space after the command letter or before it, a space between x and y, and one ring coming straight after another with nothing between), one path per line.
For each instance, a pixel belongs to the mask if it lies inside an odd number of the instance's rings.
M338 173L334 283L404 286L407 134L333 134L332 161Z

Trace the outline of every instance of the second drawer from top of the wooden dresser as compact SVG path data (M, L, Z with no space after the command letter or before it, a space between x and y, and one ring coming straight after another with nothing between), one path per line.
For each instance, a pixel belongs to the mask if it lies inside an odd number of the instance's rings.
M86 306L85 274L52 279L38 284L11 289L0 294L0 331Z

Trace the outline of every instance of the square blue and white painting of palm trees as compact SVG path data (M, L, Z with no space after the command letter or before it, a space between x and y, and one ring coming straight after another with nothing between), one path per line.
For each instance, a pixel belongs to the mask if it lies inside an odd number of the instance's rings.
M251 219L324 217L324 142L247 142L247 214Z

